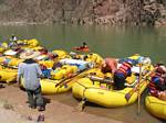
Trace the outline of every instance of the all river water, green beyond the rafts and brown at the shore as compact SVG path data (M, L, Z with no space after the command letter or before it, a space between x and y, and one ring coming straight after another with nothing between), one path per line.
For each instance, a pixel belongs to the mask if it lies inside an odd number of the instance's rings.
M166 63L166 27L125 27L125 26L77 26L77 25L1 25L0 41L9 41L11 34L18 38L37 38L49 51L64 49L71 52L72 47L86 42L91 52L103 57L127 57L141 54L152 58L153 64ZM144 96L145 97L145 96ZM152 116L144 107L142 99L141 114L137 115L137 103L118 109L105 109L89 103L85 112L125 123L162 123ZM71 92L51 96L53 100L62 103L77 105L79 101Z

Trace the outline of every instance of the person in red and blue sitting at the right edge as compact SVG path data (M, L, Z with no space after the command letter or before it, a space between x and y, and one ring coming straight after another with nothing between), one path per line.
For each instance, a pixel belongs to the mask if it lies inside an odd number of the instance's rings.
M163 64L156 66L148 87L152 96L166 101L166 67Z

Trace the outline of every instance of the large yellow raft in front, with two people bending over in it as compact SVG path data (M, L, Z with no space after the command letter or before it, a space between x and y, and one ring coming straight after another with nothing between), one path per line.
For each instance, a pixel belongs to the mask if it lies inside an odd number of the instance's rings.
M123 90L113 89L113 78L110 74L103 74L101 69L97 69L93 76L81 78L72 87L72 93L75 98L85 100L106 108L124 107L134 103L138 98L138 89L142 94L148 85L148 77L154 67L144 65L142 67L144 76L141 82L138 82L139 67L133 68L131 77L126 78L126 88ZM108 78L108 79L107 79ZM139 87L139 88L138 88Z

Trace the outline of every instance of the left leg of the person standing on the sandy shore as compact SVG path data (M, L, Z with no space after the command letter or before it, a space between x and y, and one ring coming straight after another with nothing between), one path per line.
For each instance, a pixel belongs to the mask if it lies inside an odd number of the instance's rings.
M27 90L28 93L28 101L29 101L29 107L34 109L35 108L35 100L33 97L33 91L32 90Z

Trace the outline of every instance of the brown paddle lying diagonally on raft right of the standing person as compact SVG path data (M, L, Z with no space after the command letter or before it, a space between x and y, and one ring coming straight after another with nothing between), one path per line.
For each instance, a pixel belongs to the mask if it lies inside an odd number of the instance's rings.
M73 79L74 77L79 76L80 74L82 74L83 71L85 71L85 70L87 70L87 69L89 69L89 68L83 69L83 70L80 70L80 71L77 71L77 72L75 72L75 74L72 74L71 76L69 76L69 77L62 79L60 82L58 82L58 83L55 85L55 87L61 86L61 85L65 85L65 83L70 82L71 79Z

